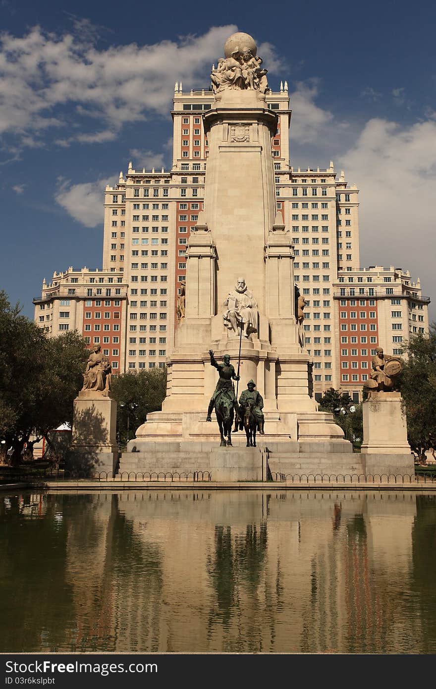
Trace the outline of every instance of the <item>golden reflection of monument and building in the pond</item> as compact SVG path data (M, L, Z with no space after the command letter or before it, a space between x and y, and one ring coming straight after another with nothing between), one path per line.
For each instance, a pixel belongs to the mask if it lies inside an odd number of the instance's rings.
M414 517L402 494L94 494L68 520L76 650L406 650Z

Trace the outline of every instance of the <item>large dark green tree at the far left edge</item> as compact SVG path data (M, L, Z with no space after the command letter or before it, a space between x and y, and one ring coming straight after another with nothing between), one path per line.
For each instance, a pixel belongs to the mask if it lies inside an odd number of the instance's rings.
M18 464L30 437L39 438L63 422L72 422L73 400L81 387L87 358L79 333L45 338L37 325L12 307L0 292L0 440L1 459L12 447ZM3 442L4 441L4 442Z

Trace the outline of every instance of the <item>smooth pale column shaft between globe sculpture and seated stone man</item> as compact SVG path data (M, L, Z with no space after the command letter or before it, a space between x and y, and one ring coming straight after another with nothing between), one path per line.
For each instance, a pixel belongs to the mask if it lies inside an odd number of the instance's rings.
M217 303L245 276L264 314L264 247L276 216L271 136L277 115L257 92L229 90L203 117L209 142L205 212L217 252Z

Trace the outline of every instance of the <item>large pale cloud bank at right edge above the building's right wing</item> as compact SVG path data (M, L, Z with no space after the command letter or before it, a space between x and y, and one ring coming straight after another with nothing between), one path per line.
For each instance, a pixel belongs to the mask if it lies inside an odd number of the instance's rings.
M436 122L369 120L339 160L360 189L362 265L395 265L436 291Z

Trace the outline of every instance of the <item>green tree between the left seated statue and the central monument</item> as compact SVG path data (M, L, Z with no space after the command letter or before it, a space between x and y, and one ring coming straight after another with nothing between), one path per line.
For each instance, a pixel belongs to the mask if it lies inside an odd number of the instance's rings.
M112 378L111 397L118 402L117 431L122 445L135 437L135 431L145 422L147 413L161 409L166 388L166 369L128 371ZM125 406L121 407L121 404Z

